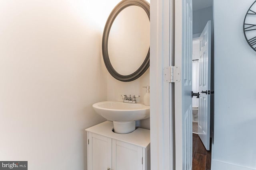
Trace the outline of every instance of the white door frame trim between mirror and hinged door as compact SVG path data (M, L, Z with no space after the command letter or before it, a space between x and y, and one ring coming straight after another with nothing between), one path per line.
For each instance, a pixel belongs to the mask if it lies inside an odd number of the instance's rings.
M172 1L150 4L150 152L152 170L172 170L172 85L164 82L164 67L170 66ZM170 27L171 26L171 27Z

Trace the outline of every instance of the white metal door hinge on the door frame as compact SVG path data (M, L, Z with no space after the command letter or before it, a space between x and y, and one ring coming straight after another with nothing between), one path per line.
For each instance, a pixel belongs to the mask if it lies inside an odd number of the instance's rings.
M180 82L180 68L178 66L164 67L164 81L169 83Z

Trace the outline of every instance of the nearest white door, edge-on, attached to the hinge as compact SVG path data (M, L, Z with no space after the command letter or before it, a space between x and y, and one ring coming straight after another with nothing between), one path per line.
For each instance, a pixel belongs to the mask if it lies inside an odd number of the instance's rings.
M192 170L192 0L175 0L175 66L181 80L175 82L176 170Z

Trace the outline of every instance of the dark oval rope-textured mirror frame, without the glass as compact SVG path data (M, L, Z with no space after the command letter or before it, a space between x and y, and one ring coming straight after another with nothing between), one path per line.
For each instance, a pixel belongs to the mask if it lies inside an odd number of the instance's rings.
M146 12L146 14L148 15L148 19L150 20L150 4L148 2L146 2L145 0L122 0L115 6L115 8L112 10L110 15L108 16L108 20L106 21L106 25L104 27L104 32L102 36L102 55L103 55L105 66L108 72L114 78L122 82L130 82L142 76L142 74L144 74L144 72L149 67L149 59L150 59L150 53L149 53L150 49L148 49L148 54L146 55L146 58L142 63L142 65L138 68L138 70L136 70L134 73L129 75L119 74L118 72L116 72L116 70L113 68L112 64L110 63L110 59L108 56L108 36L110 33L110 29L114 20L116 19L116 16L118 16L118 14L128 6L141 7Z

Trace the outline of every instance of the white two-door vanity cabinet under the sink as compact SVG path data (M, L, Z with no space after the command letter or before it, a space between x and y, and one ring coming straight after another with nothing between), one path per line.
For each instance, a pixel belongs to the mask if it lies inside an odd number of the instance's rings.
M117 134L105 121L86 129L88 170L150 170L150 130Z

